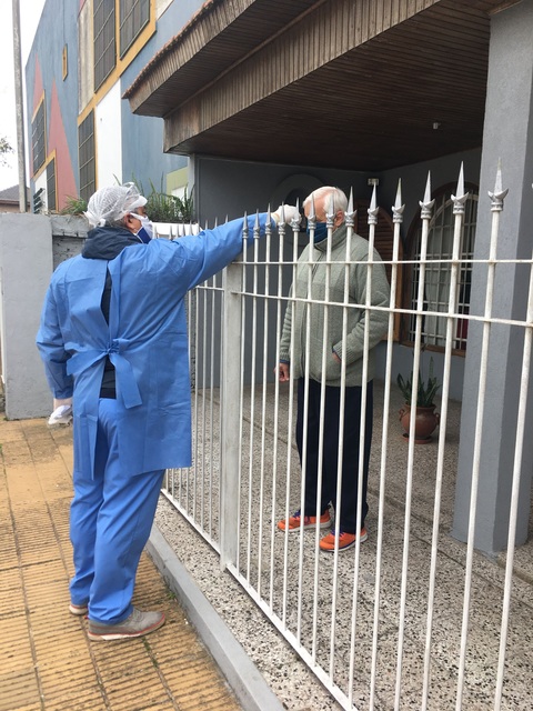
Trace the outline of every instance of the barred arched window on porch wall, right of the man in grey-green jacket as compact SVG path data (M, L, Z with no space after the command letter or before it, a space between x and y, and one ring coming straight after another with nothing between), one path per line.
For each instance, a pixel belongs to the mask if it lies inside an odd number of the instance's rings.
M472 281L472 259L474 253L475 239L475 220L477 210L476 190L470 189L470 196L465 202L463 232L461 236L460 254L460 273L457 290L454 296L453 309L457 314L454 328L453 348L459 351L466 350L467 321L461 319L461 314L469 313L470 307L470 288ZM424 304L423 311L449 311L450 304L450 282L452 274L453 250L453 232L455 216L453 214L453 202L450 191L441 192L435 198L433 208L433 219L430 222L428 234L428 263L425 266L424 279ZM412 240L412 260L416 262L421 256L421 238L422 223L418 218L415 226L414 240ZM415 309L420 283L420 263L412 267L411 288L409 292L409 303L406 308ZM410 316L406 328L406 337L409 341L415 338L416 317ZM422 342L428 346L444 348L446 344L446 319L424 314L422 321Z

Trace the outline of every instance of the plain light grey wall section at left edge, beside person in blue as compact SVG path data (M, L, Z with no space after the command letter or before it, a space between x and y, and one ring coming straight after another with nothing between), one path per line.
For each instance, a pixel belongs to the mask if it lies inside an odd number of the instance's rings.
M0 214L2 379L10 420L51 412L36 336L52 261L50 218Z

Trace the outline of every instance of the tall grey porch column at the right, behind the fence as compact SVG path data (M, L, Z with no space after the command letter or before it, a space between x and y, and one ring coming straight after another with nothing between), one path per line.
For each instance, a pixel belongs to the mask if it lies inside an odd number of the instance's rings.
M531 259L533 240L533 0L524 0L491 20L489 79L480 178L475 258L489 257L491 210L487 191L494 189L502 160L503 187L509 188L497 246L497 259ZM467 67L465 68L467 71ZM493 317L524 320L530 270L497 266ZM474 266L471 313L482 314L486 268ZM483 327L471 323L465 362L461 444L452 535L465 541L469 532L474 432ZM524 329L492 324L489 348L486 404L483 418L480 483L476 499L475 548L489 554L507 545L510 501L516 439L516 415ZM533 468L533 388L529 397L515 544L525 542Z

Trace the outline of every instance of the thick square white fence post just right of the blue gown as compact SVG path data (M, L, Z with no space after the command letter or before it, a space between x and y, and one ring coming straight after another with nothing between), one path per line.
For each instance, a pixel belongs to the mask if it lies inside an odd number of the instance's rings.
M221 478L220 565L237 563L239 535L239 422L241 403L242 262L227 267L222 278L222 382L221 382Z

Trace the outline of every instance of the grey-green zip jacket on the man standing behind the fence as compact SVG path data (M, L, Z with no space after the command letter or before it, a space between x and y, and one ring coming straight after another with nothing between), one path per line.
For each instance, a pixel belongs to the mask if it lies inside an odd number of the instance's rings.
M328 321L325 334L325 384L340 387L341 363L333 358L333 351L343 358L343 332L345 339L348 387L361 385L363 375L364 324L369 327L369 371L368 380L372 380L375 369L374 349L386 333L389 314L376 311L372 307L390 306L390 288L385 268L379 253L373 250L373 266L369 268L369 242L359 234L350 240L350 264L346 262L346 226L341 224L332 234L331 263L328 292L326 249L328 239L311 249L309 244L298 260L296 274L291 287L289 303L283 323L280 343L280 360L290 363L293 378L303 378L305 370L309 377L322 380L322 344L324 341L324 321ZM366 311L366 281L371 270L370 309ZM344 284L348 271L349 299L344 303ZM328 304L325 303L328 301ZM343 331L344 312L346 328ZM309 357L305 357L306 331L309 329ZM293 329L293 352L291 358L291 329Z

